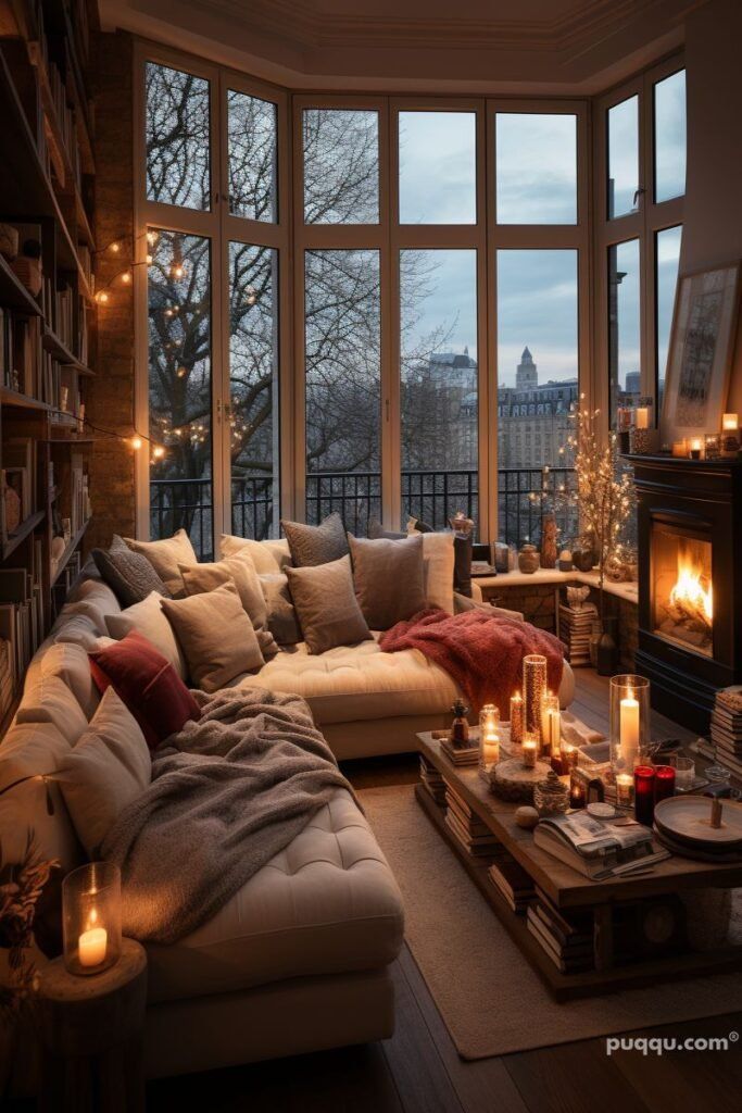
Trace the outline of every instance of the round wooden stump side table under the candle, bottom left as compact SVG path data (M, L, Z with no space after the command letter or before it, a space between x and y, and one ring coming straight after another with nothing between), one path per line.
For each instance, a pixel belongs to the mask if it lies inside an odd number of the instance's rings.
M142 1037L147 953L133 939L101 974L69 974L55 958L40 976L40 1109L135 1113L145 1109Z

